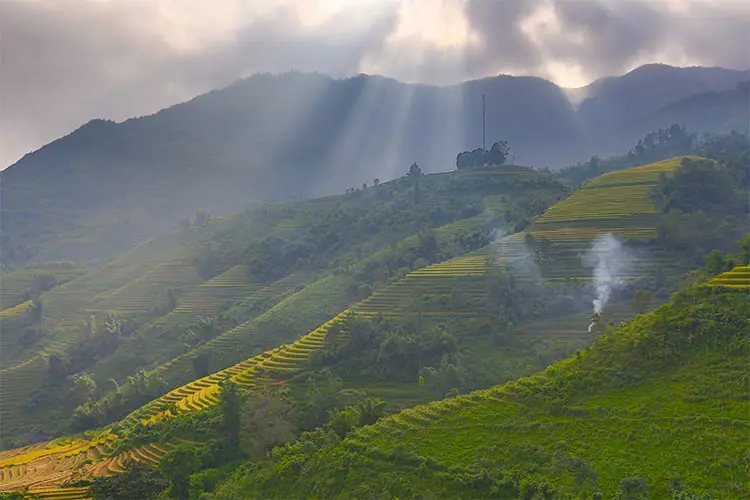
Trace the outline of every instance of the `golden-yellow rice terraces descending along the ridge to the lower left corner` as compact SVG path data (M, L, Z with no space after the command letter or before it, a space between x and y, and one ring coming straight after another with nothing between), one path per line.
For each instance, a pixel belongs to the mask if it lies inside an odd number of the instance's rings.
M347 309L299 338L291 344L253 356L229 368L213 373L207 377L178 387L164 396L139 408L118 423L118 426L130 427L138 422L153 424L168 418L173 412L200 411L218 403L220 383L231 379L241 387L248 389L264 385L279 384L282 380L307 369L310 354L323 348L327 342L338 342L346 333L335 327L341 325L351 314L372 316L387 311L388 308L399 310L405 305L404 297L411 296L417 290L429 288L430 293L440 290L449 293L456 286L471 293L480 292L486 275L483 256L458 257L450 261L428 266L410 273L403 280L390 285L385 291ZM472 311L465 311L467 314ZM429 315L431 312L426 311ZM434 311L439 315L439 311ZM451 313L455 314L455 313ZM333 334L333 336L332 336ZM166 453L171 445L149 444L111 456L112 445L117 436L104 431L101 437L86 441L78 440L56 448L28 447L0 454L0 473L5 478L0 480L0 489L12 490L26 486L32 488L49 488L70 479L78 464L85 464L87 474L107 475L122 470L127 458L156 462ZM60 489L60 492L65 491ZM70 490L72 493L73 490ZM60 493L62 494L62 493ZM80 493L84 494L84 492ZM82 498L82 497L61 497Z

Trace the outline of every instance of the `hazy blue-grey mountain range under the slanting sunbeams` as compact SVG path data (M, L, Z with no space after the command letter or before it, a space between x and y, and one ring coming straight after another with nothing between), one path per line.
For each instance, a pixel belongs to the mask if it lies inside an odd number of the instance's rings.
M514 163L558 166L622 153L671 119L706 129L702 107L664 106L746 79L721 68L645 66L583 89L576 109L563 89L532 77L435 87L256 75L154 115L93 120L0 173L3 263L98 261L197 209L332 194L399 176L414 161L426 172L451 170L458 152L481 145L481 95L488 146L504 139ZM741 121L731 106L715 109L709 129Z

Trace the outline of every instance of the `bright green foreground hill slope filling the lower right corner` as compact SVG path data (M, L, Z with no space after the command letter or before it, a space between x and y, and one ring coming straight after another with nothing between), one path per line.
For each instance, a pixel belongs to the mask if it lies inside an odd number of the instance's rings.
M674 478L748 498L748 317L743 293L688 290L533 377L310 434L212 498L664 498Z

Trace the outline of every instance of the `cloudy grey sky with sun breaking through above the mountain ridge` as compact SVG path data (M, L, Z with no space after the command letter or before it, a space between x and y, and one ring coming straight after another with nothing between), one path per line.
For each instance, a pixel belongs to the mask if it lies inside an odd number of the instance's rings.
M0 169L258 72L579 87L651 62L748 69L747 26L744 0L0 0Z

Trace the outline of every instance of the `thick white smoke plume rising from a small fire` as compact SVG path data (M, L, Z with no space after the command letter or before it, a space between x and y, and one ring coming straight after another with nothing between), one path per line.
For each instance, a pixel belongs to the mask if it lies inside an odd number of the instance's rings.
M583 255L582 260L584 266L594 268L594 313L601 314L612 292L623 285L622 278L630 267L632 257L612 233L607 233L596 238L591 250ZM592 322L589 331L593 328Z

